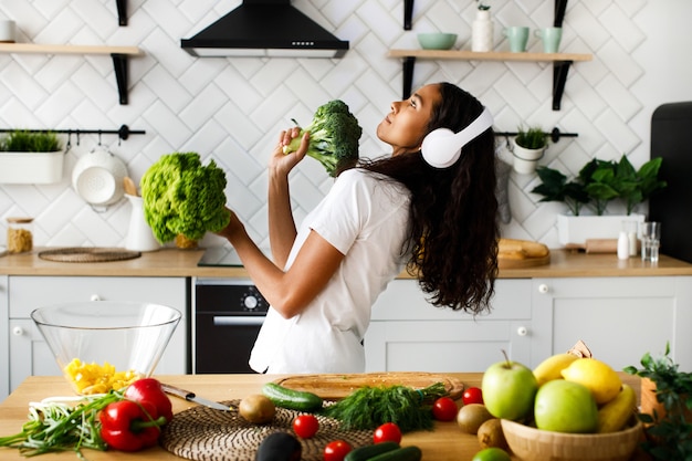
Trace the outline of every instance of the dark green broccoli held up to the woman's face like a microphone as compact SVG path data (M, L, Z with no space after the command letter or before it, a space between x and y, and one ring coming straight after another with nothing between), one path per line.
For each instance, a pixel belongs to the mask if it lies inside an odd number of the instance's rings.
M342 168L358 160L358 139L363 128L343 101L329 101L317 107L312 123L302 128L301 135L291 144L284 146L284 154L298 149L305 132L310 132L307 155L318 160L329 176L336 176Z

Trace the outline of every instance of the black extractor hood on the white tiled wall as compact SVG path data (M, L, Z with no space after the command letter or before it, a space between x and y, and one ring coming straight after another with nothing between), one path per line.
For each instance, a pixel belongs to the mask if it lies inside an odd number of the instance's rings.
M180 45L200 57L342 57L343 41L291 6L291 0L243 0Z

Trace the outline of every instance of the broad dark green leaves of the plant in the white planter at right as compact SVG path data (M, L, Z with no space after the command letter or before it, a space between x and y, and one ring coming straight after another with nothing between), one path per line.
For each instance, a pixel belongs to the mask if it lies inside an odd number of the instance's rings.
M542 184L532 192L543 196L543 202L565 202L574 216L579 216L584 205L593 205L596 214L602 216L611 200L621 199L629 216L638 203L668 186L658 177L661 163L662 158L653 158L636 170L625 155L618 163L594 158L569 181L558 170L539 167Z

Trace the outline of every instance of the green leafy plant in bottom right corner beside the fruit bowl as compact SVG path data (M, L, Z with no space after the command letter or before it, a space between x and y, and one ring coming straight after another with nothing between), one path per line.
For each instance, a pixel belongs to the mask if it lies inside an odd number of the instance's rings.
M642 449L657 460L689 461L692 460L692 374L680 371L669 354L670 344L667 344L662 357L653 358L647 353L641 358L642 368L629 366L625 371L650 379L663 409L661 413L654 409L638 415L646 425ZM644 398L642 394L642 407Z

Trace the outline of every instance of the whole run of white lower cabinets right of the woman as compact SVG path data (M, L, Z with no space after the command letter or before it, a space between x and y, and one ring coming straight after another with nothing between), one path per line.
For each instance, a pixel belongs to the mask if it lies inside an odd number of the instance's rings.
M620 370L657 355L692 371L692 277L499 279L490 314L434 307L415 280L392 282L365 337L368 371L483 371L502 359L535 367L584 340Z

